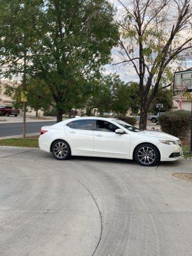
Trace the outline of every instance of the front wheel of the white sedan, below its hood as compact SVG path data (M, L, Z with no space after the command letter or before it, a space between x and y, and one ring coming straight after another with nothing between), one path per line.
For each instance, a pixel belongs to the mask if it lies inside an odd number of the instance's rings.
M160 161L159 150L150 143L143 143L134 151L134 159L142 166L154 166Z

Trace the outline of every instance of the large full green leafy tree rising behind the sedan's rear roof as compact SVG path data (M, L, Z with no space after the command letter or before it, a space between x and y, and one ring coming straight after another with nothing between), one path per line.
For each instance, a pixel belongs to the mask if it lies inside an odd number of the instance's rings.
M44 1L38 26L32 76L49 88L59 122L84 96L86 81L100 76L118 40L118 28L106 0Z

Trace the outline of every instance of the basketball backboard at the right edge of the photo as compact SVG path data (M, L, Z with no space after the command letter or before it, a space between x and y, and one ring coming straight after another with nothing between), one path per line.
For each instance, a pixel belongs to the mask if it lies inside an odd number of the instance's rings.
M192 92L192 68L175 72L174 74L174 91L184 90Z

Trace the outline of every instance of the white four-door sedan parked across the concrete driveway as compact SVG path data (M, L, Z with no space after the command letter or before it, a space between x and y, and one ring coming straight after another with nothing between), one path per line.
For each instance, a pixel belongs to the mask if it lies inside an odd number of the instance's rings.
M39 147L59 160L70 156L135 159L143 166L175 161L182 156L179 138L156 131L140 131L115 118L72 118L44 126Z

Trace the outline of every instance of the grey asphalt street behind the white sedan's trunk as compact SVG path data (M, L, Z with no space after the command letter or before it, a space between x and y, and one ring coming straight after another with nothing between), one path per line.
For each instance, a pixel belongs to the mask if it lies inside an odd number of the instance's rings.
M28 122L26 123L26 132L40 132L44 125L52 125L56 122ZM22 134L22 123L0 124L0 137Z

